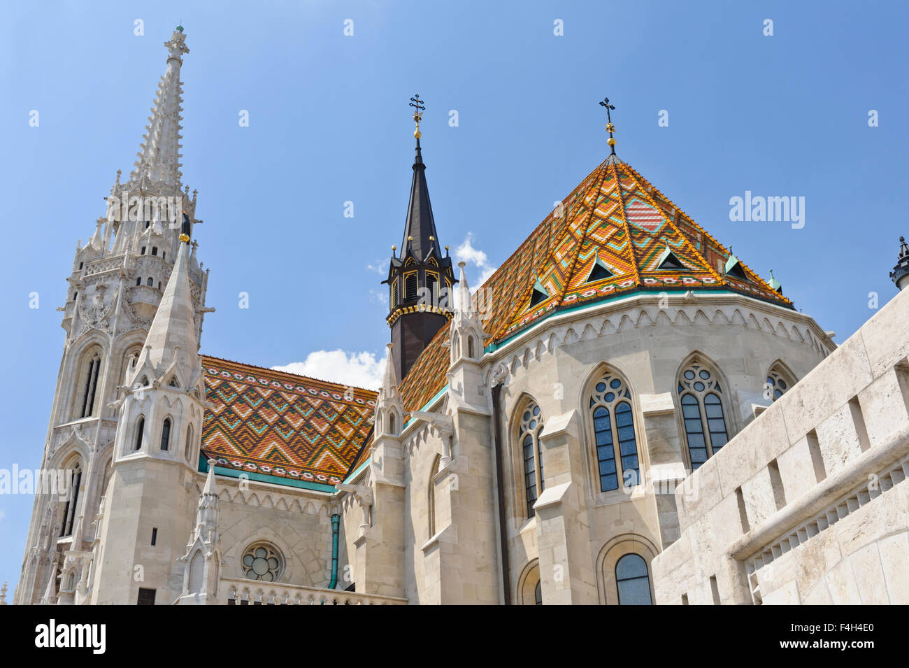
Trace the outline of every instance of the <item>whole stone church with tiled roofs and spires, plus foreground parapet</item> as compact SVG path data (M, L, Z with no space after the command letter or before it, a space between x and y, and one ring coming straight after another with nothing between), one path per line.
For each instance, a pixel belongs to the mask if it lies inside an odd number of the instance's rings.
M182 28L165 46L67 278L42 469L72 483L35 495L14 603L840 603L816 583L875 554L861 602L906 601L909 291L838 348L610 136L471 294L415 97L379 391L202 355Z

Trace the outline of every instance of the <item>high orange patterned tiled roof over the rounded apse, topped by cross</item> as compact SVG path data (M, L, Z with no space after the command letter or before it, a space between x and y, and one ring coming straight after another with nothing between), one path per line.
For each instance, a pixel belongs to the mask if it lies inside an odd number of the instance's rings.
M474 293L474 305L493 342L556 310L644 290L725 290L792 307L741 261L727 274L730 256L634 168L606 159ZM445 387L447 334L445 324L402 382L408 410Z

